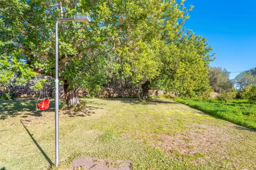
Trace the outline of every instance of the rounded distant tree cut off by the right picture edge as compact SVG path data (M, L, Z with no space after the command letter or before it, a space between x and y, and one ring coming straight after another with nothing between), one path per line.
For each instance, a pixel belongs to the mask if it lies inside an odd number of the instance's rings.
M245 87L249 86L249 85L256 85L256 74L254 74L255 72L255 68L251 69L251 70L247 70L244 72L241 72L240 74L238 74L235 79L233 80L236 87L244 90Z

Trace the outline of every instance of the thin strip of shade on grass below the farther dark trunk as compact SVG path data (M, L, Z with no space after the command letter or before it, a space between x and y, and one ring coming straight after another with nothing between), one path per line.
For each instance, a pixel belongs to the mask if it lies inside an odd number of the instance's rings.
M159 100L159 99L148 99L145 102L140 102L136 101L133 98L102 98L102 100L113 100L113 101L119 101L122 103L127 103L131 105L136 105L136 104L142 104L142 105L156 105L156 104L178 104L178 102L174 101L164 101L164 100Z

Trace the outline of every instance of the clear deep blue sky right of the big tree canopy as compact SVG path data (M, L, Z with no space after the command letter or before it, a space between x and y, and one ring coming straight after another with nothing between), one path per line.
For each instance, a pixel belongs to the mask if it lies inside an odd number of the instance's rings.
M187 0L187 29L207 38L216 52L210 66L229 72L256 67L256 0ZM238 73L231 73L233 79Z

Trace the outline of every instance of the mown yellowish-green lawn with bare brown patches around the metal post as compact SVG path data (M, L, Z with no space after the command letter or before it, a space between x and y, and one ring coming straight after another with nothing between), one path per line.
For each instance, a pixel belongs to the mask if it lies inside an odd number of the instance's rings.
M132 160L132 169L256 169L255 131L171 99L81 99L59 115L60 166L79 155ZM55 169L54 102L0 100L0 169Z

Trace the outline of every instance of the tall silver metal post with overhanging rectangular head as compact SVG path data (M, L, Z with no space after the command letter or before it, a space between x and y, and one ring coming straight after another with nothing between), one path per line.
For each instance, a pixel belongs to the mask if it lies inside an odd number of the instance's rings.
M58 23L61 21L91 22L89 15L74 15L55 22L55 166L59 165L59 75L58 75Z

